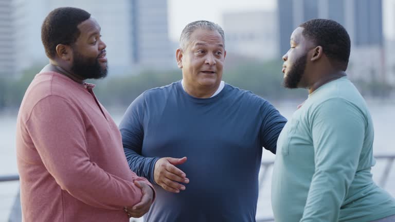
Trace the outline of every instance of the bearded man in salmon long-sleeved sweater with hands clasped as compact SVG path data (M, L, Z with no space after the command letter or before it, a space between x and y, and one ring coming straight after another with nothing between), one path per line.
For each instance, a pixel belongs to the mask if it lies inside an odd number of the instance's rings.
M22 214L29 221L129 221L154 199L125 159L121 135L86 79L107 74L100 26L77 8L42 25L50 64L33 79L16 130Z

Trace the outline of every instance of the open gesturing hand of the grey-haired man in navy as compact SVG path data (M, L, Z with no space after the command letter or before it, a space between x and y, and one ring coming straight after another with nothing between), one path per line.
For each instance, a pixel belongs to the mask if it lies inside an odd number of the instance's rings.
M155 182L169 192L179 193L179 190L185 190L185 186L178 182L189 183L189 179L186 178L184 172L174 167L174 165L183 164L185 161L187 161L186 157L158 159L154 167Z

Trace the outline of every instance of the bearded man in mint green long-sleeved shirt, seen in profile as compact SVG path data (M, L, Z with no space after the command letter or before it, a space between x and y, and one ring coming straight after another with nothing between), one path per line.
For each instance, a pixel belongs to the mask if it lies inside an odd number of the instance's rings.
M370 173L373 123L347 79L350 37L331 20L311 20L291 35L284 86L309 97L284 126L272 178L276 222L395 221L395 199Z

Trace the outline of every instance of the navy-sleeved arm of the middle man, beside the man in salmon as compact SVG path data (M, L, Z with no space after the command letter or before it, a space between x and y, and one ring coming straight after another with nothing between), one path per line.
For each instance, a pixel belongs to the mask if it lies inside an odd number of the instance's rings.
M141 155L144 137L143 116L145 100L143 94L137 97L123 115L119 130L122 135L123 151L128 160L129 168L138 176L147 178L151 183L154 180L155 163L159 157L144 157Z

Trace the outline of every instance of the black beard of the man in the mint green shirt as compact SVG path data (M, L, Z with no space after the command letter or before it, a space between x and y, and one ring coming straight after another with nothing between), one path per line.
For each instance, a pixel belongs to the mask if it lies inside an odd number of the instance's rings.
M307 53L299 57L284 78L286 88L297 88L306 68Z

